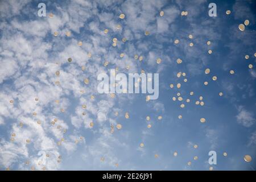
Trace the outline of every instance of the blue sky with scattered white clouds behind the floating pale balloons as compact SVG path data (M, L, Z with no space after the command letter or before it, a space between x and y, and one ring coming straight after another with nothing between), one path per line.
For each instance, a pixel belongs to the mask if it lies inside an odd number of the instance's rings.
M40 2L46 3L46 17L38 16ZM208 15L211 2L217 5L216 17ZM254 170L255 5L205 0L1 0L0 169ZM181 16L181 11L188 15ZM121 13L124 19L119 18ZM240 31L238 25L246 19L250 23ZM118 39L116 47L113 38ZM146 102L146 94L99 94L97 75L117 67L117 73L159 73L158 100ZM177 77L179 72L185 76ZM177 93L183 101L177 100ZM203 106L195 104L200 96ZM208 163L212 150L217 152L216 165ZM251 162L245 162L245 155Z

